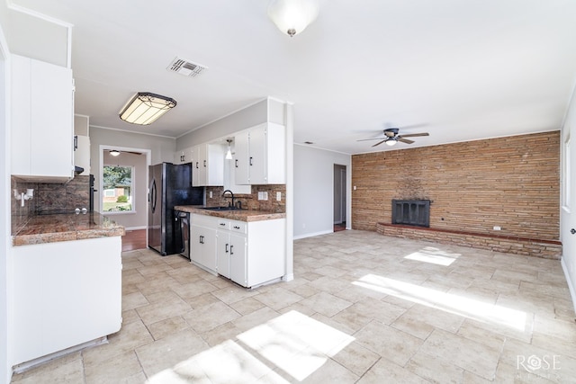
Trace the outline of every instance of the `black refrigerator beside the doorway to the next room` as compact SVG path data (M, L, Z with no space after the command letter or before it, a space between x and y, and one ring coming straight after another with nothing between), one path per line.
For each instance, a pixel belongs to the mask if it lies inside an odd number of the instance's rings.
M176 205L197 205L203 187L192 186L192 164L162 163L148 168L148 247L160 255L184 251Z

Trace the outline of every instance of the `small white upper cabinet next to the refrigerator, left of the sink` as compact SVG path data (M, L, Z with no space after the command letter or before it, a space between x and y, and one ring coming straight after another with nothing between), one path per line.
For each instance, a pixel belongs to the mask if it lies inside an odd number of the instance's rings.
M192 185L224 185L224 147L218 144L201 144L193 147Z

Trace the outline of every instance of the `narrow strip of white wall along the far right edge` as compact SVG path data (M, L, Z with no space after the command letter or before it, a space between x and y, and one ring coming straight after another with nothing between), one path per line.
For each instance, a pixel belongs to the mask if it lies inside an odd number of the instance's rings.
M570 232L572 228L576 229L576 94L572 94L572 102L564 119L561 137L563 194L562 209L560 210L560 240L563 244L562 266L572 295L574 311L576 311L576 234ZM565 143L569 138L570 149L567 151ZM567 164L566 159L570 159L570 164ZM568 173L570 180L567 180L566 177ZM570 190L569 193L565 192L566 187Z

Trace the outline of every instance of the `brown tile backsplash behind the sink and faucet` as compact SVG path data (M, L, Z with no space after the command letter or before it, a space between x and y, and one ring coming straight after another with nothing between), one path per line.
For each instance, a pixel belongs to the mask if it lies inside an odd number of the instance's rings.
M212 198L210 198L212 192ZM206 206L226 206L230 202L229 194L222 196L223 187L206 187ZM258 200L258 192L267 192L268 200ZM281 200L276 200L276 193L281 193ZM284 213L286 211L286 185L252 185L250 194L234 194L235 201L242 201L242 208L248 210L267 210L270 212Z

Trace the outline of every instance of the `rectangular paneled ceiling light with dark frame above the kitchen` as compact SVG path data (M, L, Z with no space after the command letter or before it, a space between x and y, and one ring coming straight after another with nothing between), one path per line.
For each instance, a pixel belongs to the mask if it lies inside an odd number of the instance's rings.
M120 118L132 124L149 125L176 106L176 101L159 94L139 92L121 109Z

